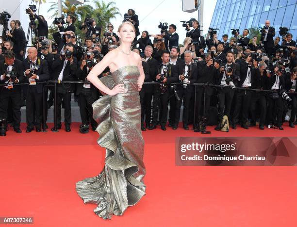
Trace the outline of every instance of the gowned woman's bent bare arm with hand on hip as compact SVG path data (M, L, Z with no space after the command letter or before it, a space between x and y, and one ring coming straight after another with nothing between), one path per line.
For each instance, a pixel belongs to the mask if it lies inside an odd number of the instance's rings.
M126 89L123 87L124 84L117 84L112 90L110 90L98 78L98 75L100 75L107 66L113 63L113 59L115 59L115 57L115 51L110 51L108 54L104 56L101 62L94 66L94 68L89 72L87 76L87 80L89 80L95 87L97 87L101 92L110 96L114 96L117 93L126 92Z

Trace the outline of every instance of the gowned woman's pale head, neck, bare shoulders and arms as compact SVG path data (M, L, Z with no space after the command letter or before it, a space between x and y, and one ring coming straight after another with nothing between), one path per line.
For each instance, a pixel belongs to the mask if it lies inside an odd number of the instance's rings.
M124 88L124 84L120 83L115 85L115 87L111 90L106 87L99 79L98 75L102 73L102 71L108 66L111 72L116 71L117 69L127 66L127 65L135 65L138 67L140 76L137 80L138 91L141 90L142 84L145 79L142 62L139 54L131 51L131 43L135 37L135 32L131 25L124 24L120 30L117 32L118 37L121 39L121 45L108 52L104 58L94 66L94 68L90 71L87 76L87 80L91 81L94 86L96 86L101 92L114 96L118 93L126 93L128 90ZM129 55L124 54L120 51L122 49L125 53L130 53Z

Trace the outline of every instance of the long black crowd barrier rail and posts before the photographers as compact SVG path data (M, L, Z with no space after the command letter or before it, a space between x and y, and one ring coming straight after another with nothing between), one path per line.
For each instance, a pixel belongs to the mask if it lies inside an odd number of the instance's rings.
M46 131L46 111L47 111L47 97L46 97L46 88L47 87L53 87L54 88L54 128L52 131L58 131L57 130L57 84L59 83L90 83L90 81L44 81L44 82L38 82L38 83L44 83L43 86L43 131ZM160 82L144 82L144 84L160 84ZM171 83L175 85L179 85L181 83ZM29 85L29 83L14 83L13 85ZM203 115L205 115L205 95L206 95L206 89L205 87L210 86L217 89L231 89L230 86L221 86L211 83L193 83L190 84L191 86L195 86L195 98L194 98L194 123L193 123L193 129L195 127L196 123L196 99L197 99L197 87L202 87L204 89L204 101L203 101ZM0 84L0 86L7 86L7 84ZM274 93L274 90L260 90L260 89L252 89L252 88L242 88L242 87L236 87L234 90L246 90L246 91L253 91L253 92L264 92L264 93ZM297 92L289 93L293 95L297 95Z

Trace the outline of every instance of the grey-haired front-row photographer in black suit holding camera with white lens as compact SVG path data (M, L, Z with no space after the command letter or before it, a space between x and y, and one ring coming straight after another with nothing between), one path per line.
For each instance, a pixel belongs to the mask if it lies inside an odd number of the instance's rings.
M183 129L189 130L189 109L190 100L194 94L195 86L191 85L197 81L198 70L197 65L191 63L193 59L193 53L190 50L184 52L184 62L177 63L175 65L175 70L177 75L179 75L180 85L177 86L177 93L180 97L180 101L176 99L175 104L175 119L172 129L176 130L180 121L181 115L181 103L183 101L183 111L182 111L182 124ZM171 109L171 107L170 107Z

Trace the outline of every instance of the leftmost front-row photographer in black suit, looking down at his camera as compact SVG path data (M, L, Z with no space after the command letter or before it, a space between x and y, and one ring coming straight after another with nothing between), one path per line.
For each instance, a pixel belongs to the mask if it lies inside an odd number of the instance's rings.
M24 81L24 69L22 61L15 58L15 53L6 50L4 60L0 61L0 118L7 119L8 100L12 101L13 127L17 133L21 133L21 87L15 85Z

